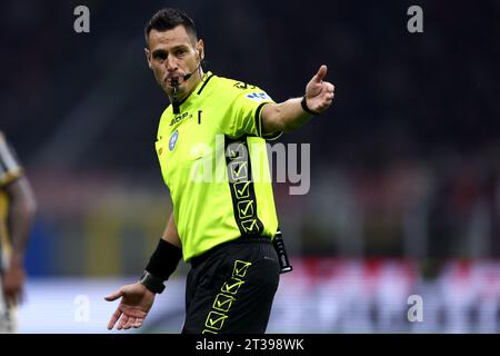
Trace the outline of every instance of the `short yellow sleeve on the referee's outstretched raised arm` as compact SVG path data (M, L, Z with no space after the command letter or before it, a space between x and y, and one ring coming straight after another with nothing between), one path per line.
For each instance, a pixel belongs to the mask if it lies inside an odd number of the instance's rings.
M236 96L231 105L231 135L233 137L253 135L272 139L271 136L262 135L262 109L271 102L274 102L271 97L258 87L243 90Z

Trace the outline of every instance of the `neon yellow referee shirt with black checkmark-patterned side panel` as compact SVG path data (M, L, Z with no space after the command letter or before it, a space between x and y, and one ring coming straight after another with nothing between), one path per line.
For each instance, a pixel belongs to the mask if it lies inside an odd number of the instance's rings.
M244 236L269 236L278 218L256 86L206 73L162 113L156 149L173 204L183 259Z

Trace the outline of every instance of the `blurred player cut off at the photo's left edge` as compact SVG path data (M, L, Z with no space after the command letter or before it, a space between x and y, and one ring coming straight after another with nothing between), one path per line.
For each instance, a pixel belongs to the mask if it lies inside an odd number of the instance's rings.
M28 178L0 132L0 334L16 333L16 305L24 284L23 255L36 214Z

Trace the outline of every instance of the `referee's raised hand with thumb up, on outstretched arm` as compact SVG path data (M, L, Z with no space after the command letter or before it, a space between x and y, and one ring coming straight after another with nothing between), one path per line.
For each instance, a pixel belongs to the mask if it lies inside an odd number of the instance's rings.
M308 108L321 113L327 110L332 100L336 87L328 81L323 81L327 76L327 66L322 65L306 87L306 100Z

